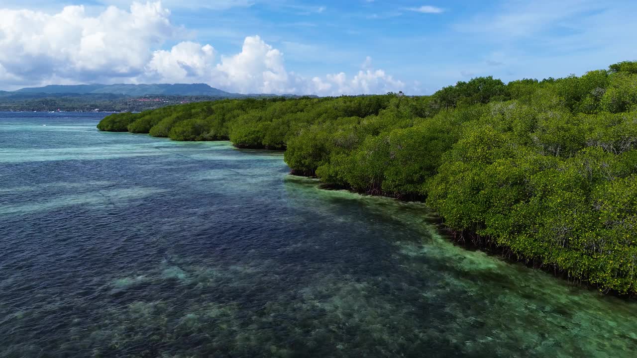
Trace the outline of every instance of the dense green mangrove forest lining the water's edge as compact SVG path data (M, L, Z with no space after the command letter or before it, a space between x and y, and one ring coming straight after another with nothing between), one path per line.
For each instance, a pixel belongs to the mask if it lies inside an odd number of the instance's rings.
M294 174L426 201L457 240L637 294L637 62L433 96L224 99L98 128L285 149Z

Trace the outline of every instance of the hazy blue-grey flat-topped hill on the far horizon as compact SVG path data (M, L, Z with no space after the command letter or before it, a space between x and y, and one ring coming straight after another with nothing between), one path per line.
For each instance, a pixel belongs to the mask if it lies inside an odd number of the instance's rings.
M214 96L241 97L239 94L215 89L205 83L176 83L152 85L48 85L45 87L29 87L13 93L20 94L120 94L124 96Z

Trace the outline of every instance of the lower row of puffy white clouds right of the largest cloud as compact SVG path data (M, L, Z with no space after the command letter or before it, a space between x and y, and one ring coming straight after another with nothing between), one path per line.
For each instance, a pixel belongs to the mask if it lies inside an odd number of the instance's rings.
M208 48L208 50L206 50ZM373 69L367 57L362 69L353 77L345 73L304 78L285 69L283 54L259 36L248 36L241 52L222 56L213 65L213 49L196 43L180 43L171 51L156 51L151 61L153 82L205 82L213 87L240 93L297 93L339 96L341 94L375 94L404 89L404 83ZM192 69L189 75L187 69ZM149 76L149 74L145 74ZM147 79L149 79L147 77ZM141 79L136 80L141 82Z

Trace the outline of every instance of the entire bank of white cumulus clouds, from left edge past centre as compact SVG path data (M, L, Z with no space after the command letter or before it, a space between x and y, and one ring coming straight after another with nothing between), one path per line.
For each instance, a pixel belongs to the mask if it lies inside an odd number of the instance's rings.
M109 6L91 16L83 6L50 15L0 9L0 86L50 83L192 83L240 93L318 95L373 94L404 83L366 58L354 76L340 72L304 78L287 71L283 53L259 36L248 36L238 54L219 55L208 44L178 39L161 3Z

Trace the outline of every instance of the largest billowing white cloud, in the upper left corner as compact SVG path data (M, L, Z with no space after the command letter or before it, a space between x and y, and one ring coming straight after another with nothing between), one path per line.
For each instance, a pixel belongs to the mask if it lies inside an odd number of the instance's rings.
M113 6L90 17L83 6L60 13L0 10L0 64L24 82L47 76L137 75L151 50L178 31L160 3Z

